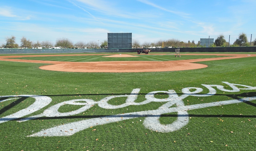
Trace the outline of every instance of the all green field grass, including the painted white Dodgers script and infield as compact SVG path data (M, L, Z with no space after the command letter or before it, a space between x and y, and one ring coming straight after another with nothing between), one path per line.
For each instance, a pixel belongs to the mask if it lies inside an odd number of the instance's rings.
M84 60L33 59L38 58ZM170 56L134 58L166 61ZM46 64L0 61L0 150L256 150L255 59L206 61L199 62L208 65L202 69L144 73L57 72L39 69ZM49 102L30 108L36 101L28 95L45 96ZM230 100L240 102L218 104ZM210 106L212 102L217 105ZM205 106L198 108L200 104Z

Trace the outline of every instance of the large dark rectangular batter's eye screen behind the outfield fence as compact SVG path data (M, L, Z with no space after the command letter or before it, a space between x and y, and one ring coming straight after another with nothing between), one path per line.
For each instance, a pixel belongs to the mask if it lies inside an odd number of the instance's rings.
M132 33L108 33L108 48L132 48Z

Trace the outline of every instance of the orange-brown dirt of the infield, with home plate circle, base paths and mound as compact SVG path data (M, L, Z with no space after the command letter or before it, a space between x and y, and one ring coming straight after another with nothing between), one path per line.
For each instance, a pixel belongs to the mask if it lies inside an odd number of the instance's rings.
M106 55L106 54L70 54L70 55L78 56L78 55ZM154 54L142 54L142 55L154 55ZM161 55L167 55L167 54L161 54ZM250 54L250 55L247 55L247 54L183 54L183 55L221 55L221 56L227 56L227 57L178 60L178 61L161 61L161 62L155 62L155 61L62 62L62 61L7 59L7 58L14 58L14 57L68 56L68 55L19 55L19 56L0 56L0 60L15 61L15 62L47 63L51 65L40 66L39 68L44 70L50 70L50 71L121 73L121 72L163 72L163 71L180 71L180 70L199 69L199 68L205 68L207 67L207 65L198 64L195 62L256 56L256 54ZM128 54L128 55L109 55L107 57L135 57L135 56L132 54L130 55Z

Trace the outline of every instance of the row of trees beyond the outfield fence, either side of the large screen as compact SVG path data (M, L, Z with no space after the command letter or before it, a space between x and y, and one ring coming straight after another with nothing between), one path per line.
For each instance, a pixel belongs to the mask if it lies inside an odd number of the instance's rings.
M252 42L253 45L256 45L256 38ZM168 40L158 40L156 42L144 42L140 43L138 40L133 39L132 41L132 47L133 48L150 48L150 47L173 47L173 48L185 48L185 47L205 47L205 45L200 45L200 41L195 43L194 40L191 42L183 42L179 41L177 39L168 39ZM217 39L215 39L214 43L211 44L209 47L248 47L250 46L250 43L248 42L247 36L245 33L239 34L239 37L236 39L236 41L229 45L229 43L225 40L224 36L221 34L218 36ZM42 41L42 42L33 42L27 39L26 37L22 37L20 39L20 46L16 43L16 37L11 36L6 38L6 43L1 45L1 48L43 48L43 49L49 49L51 47L60 47L63 49L68 48L108 48L108 40L101 41L99 45L99 40L97 41L89 41L88 43L79 41L77 43L73 43L68 38L59 38L56 40L55 43L51 41Z

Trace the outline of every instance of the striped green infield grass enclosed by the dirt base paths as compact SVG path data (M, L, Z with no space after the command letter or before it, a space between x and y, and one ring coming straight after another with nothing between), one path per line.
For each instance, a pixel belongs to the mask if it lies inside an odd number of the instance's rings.
M214 57L225 57L217 55L136 55L139 57L103 57L108 55L88 55L88 56L39 56L20 57L12 59L43 60L43 61L68 61L68 62L95 62L95 61L174 61L189 59L204 59Z

